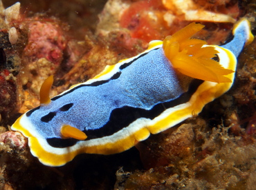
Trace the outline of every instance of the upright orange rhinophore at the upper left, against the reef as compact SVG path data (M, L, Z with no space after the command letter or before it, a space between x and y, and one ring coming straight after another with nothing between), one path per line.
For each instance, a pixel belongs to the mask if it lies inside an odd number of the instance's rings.
M53 85L53 75L46 78L46 80L44 81L44 83L42 84L42 86L40 88L39 96L40 96L40 104L41 105L51 103L49 94L50 94L52 85Z

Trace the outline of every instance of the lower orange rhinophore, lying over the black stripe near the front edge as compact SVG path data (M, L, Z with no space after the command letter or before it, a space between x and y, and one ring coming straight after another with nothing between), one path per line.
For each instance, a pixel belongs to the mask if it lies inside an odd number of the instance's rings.
M70 125L63 125L60 132L64 138L75 138L77 140L85 140L87 138L83 131Z

